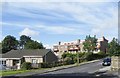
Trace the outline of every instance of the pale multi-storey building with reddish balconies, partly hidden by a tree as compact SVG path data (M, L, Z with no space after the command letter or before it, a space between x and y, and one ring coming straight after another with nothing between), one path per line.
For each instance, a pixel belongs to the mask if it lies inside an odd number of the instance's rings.
M69 52L69 53L76 53L77 51L85 52L83 49L84 42L85 40L80 40L80 39L70 42L59 42L58 44L55 44L53 46L53 51L59 58L61 58L61 55L64 52ZM100 51L107 52L108 40L104 36L102 38L98 38L96 45L97 46L94 53L98 53Z

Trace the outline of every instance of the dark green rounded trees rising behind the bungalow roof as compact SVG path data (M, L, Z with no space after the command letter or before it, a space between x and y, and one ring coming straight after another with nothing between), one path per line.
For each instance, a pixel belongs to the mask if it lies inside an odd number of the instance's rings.
M8 35L2 41L2 53L6 53L12 49L44 49L43 44L31 39L31 37L22 35L20 40L16 40L14 36Z

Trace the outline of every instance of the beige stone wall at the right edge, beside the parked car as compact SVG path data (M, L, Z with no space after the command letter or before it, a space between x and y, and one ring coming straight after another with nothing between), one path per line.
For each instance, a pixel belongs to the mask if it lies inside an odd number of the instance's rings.
M120 71L120 56L112 56L111 70L112 71Z

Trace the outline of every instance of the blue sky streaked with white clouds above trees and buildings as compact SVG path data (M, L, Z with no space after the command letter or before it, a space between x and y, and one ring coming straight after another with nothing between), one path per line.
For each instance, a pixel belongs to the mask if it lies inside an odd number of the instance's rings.
M117 0L84 1L4 1L0 3L0 41L7 35L18 40L27 35L50 48L59 41L83 40L86 35L105 36L109 41L117 38Z

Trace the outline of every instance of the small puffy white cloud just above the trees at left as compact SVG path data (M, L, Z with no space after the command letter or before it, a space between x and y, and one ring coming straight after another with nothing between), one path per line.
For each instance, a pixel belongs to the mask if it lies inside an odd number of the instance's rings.
M23 31L19 33L19 35L26 35L26 36L37 36L39 35L38 31L31 30L29 28L25 28Z

